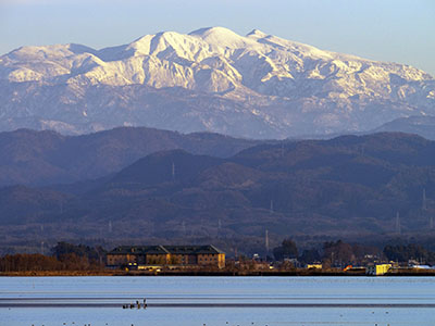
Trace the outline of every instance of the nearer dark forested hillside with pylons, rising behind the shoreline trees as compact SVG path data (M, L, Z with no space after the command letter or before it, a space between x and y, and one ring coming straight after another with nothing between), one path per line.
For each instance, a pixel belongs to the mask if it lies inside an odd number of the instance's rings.
M45 225L51 238L224 239L268 229L356 239L396 235L397 214L400 231L423 235L433 231L433 158L435 141L394 133L262 143L227 159L156 152L85 192L3 188L0 235L41 237L35 225Z

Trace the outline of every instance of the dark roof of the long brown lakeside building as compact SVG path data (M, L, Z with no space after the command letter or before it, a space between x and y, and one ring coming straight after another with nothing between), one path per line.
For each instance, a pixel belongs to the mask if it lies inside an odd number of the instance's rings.
M109 254L217 254L224 253L212 244L208 246L120 246Z

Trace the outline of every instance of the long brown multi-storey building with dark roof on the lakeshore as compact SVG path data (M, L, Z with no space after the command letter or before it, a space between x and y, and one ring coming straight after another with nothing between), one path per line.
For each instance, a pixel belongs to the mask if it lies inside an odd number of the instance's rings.
M214 246L121 246L107 254L109 267L176 265L225 267L225 253Z

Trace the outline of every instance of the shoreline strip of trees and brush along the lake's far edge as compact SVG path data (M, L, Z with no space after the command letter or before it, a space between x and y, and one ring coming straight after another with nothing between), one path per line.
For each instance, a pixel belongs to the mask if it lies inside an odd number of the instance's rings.
M421 246L386 246L382 253L365 247L325 242L322 255L315 249L298 254L296 243L285 239L273 249L274 259L243 254L226 260L225 266L161 263L126 263L108 266L102 247L58 242L49 255L15 253L0 256L1 276L435 276L435 252ZM357 250L360 249L360 250ZM378 249L377 249L378 250ZM357 251L361 251L358 255ZM369 253L368 253L369 252ZM358 253L358 252L357 252ZM289 259L291 258L291 259ZM418 260L415 260L418 258ZM127 260L128 261L128 260ZM315 262L315 263L310 263ZM426 265L428 263L428 265ZM115 265L115 264L112 264ZM387 267L373 273L373 265ZM369 269L368 269L369 268ZM389 271L388 271L389 268Z

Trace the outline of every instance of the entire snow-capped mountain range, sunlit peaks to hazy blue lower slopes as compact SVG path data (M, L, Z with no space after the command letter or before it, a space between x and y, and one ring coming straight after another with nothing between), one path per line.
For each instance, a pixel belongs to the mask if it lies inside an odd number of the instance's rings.
M132 125L283 138L425 114L435 114L431 75L257 29L166 32L101 50L70 43L0 57L0 130Z

